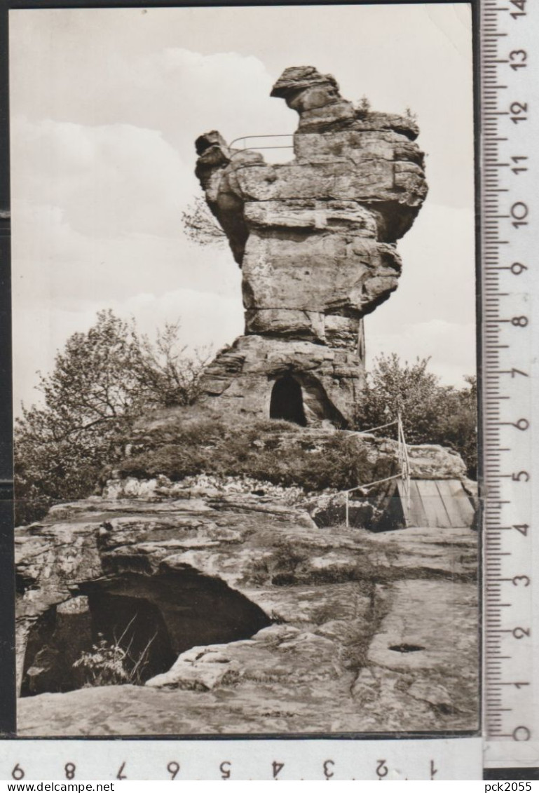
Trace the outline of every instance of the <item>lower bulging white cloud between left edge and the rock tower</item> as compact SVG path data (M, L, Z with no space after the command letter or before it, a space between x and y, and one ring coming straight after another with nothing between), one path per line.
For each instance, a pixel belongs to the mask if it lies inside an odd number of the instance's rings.
M13 197L59 206L77 232L181 236L192 167L153 129L15 117Z

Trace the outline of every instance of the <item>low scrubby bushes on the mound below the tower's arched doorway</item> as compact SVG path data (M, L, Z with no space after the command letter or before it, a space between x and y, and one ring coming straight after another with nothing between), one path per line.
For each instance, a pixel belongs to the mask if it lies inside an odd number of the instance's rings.
M356 440L346 433L327 435L320 448L300 427L286 421L227 423L224 418L204 416L198 408L197 412L198 419L178 412L162 428L135 439L132 457L117 465L120 475L151 478L164 474L173 481L198 473L248 476L316 492L352 488L365 481L365 471L372 469L366 450L358 450ZM286 435L290 442L282 442ZM390 466L388 459L388 469L380 477L393 473ZM104 476L108 473L105 470Z

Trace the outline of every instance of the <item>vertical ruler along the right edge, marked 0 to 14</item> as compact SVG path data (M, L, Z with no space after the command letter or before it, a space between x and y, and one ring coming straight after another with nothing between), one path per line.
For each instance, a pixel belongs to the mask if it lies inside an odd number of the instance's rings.
M496 768L539 765L537 0L482 0L480 17L484 764Z

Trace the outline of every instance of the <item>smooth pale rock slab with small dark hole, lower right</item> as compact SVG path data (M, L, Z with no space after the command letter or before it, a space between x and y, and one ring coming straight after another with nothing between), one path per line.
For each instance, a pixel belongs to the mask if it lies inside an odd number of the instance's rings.
M369 646L353 695L367 731L398 729L402 719L434 730L476 724L479 686L477 588L449 581L392 584L392 607Z

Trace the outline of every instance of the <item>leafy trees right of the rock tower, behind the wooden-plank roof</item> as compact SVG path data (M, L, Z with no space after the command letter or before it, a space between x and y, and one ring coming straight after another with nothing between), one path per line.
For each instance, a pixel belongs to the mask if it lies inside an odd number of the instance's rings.
M429 358L417 358L402 364L395 353L377 358L357 408L357 428L380 426L400 413L408 443L449 446L462 455L468 475L476 477L476 379L464 378L464 389L442 386L427 371L428 363Z

